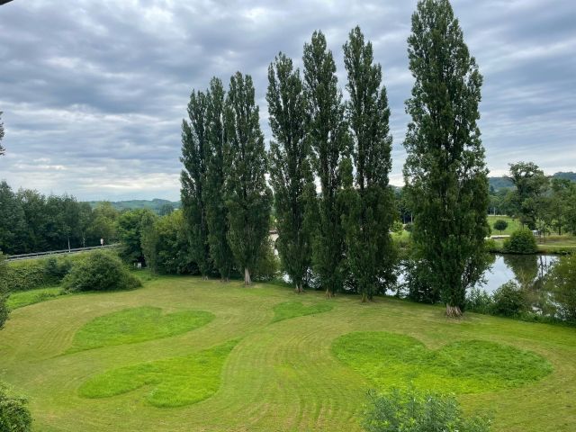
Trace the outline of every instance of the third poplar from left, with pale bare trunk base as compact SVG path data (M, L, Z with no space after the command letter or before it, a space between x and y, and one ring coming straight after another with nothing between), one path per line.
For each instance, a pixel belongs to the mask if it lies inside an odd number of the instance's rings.
M266 184L266 149L260 130L252 77L240 72L230 78L226 98L226 203L229 245L244 284L268 240L272 191Z

